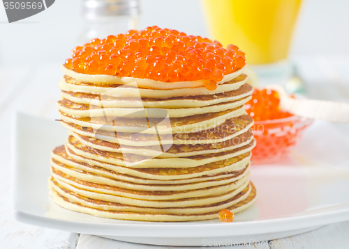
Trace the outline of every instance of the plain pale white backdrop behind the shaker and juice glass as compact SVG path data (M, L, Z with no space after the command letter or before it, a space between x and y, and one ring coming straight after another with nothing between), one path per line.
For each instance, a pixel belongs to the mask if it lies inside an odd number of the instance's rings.
M140 2L141 29L158 25L209 36L200 0ZM0 3L0 65L63 63L84 24L81 4L81 0L57 0L38 15L8 24ZM291 56L349 55L348 10L347 0L304 0Z

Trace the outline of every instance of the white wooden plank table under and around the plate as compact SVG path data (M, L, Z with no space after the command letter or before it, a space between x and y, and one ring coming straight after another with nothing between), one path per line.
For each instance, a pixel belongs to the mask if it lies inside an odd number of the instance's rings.
M349 58L296 58L296 62L299 75L306 82L311 97L349 99ZM60 77L58 64L41 67L0 67L0 248L172 248L112 241L98 236L34 227L14 220L11 214L10 184L10 133L13 128L11 115L14 111L22 111L43 118L57 118L55 102L59 98L59 89L56 85ZM349 130L348 125L340 124L336 127L343 133ZM346 134L348 136L349 133ZM349 248L349 221L327 225L289 238L235 248Z

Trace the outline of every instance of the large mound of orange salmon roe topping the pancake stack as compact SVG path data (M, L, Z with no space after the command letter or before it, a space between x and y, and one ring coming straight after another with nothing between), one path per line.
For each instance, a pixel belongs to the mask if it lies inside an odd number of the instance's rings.
M149 26L141 31L98 38L75 47L66 68L83 74L107 74L156 81L206 80L214 90L225 74L246 65L235 45L186 35L174 29Z

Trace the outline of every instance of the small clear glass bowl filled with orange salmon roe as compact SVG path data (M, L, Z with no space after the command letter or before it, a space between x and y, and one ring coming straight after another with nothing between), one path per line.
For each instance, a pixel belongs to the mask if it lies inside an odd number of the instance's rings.
M252 150L253 163L283 159L313 122L282 111L279 103L279 94L270 89L253 90L252 99L246 103L246 111L255 121L253 135L257 144Z

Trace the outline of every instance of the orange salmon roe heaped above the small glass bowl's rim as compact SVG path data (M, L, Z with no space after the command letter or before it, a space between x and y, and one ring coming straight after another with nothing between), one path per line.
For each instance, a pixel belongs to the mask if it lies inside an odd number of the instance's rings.
M281 111L279 104L279 94L275 90L254 89L252 99L246 103L246 111L255 121L276 120L292 116L288 112Z

